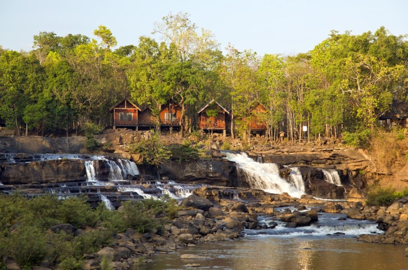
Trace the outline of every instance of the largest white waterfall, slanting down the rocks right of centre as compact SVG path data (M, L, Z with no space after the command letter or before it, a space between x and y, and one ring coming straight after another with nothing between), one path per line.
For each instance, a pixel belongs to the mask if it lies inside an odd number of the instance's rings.
M304 191L279 176L276 164L258 163L249 158L246 153L227 152L226 158L237 163L239 173L245 177L251 188L258 188L273 194L287 192L290 196L297 198L304 194Z

